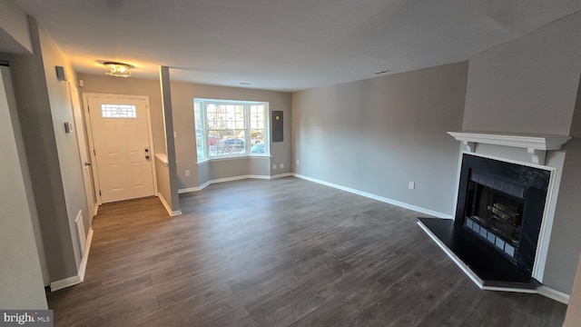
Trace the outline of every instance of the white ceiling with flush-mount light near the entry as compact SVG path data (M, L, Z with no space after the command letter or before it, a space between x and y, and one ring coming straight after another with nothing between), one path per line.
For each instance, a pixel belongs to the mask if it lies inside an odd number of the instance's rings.
M17 0L77 72L296 91L467 60L579 0ZM114 77L112 77L114 78ZM250 85L241 85L250 83Z

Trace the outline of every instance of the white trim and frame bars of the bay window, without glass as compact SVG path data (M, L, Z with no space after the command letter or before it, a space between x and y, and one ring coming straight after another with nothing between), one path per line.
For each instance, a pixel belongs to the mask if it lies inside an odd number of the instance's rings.
M251 126L245 125L244 128L244 154L228 154L228 155L215 155L210 156L210 149L208 147L208 124L207 124L207 112L205 106L201 106L202 110L202 126L204 126L204 134L203 134L203 152L204 158L200 160L198 158L197 153L197 144L196 144L196 163L202 164L211 161L222 161L222 160L232 160L232 159L241 159L241 158L271 158L271 104L268 101L248 101L248 100L225 100L225 99L210 99L210 98L193 98L194 109L195 103L198 102L212 102L213 104L244 104L244 123L250 124L251 123L251 104L263 104L266 106L264 110L264 144L266 146L266 151L264 154L251 154ZM195 119L195 114L194 114ZM195 122L194 122L194 130L195 130ZM195 131L194 131L195 132ZM195 133L194 133L195 134ZM194 139L196 140L196 139Z

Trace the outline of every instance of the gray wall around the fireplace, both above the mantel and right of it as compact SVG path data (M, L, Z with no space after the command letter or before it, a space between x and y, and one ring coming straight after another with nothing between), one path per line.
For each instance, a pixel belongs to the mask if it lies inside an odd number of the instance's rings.
M464 130L576 136L579 123L571 128L571 122L578 101L580 54L578 13L470 58ZM566 293L571 291L581 250L581 238L573 233L581 231L576 197L580 184L572 183L581 173L576 164L578 146L573 140L566 145L566 154L554 152L547 158L547 165L556 167L563 178L543 282Z

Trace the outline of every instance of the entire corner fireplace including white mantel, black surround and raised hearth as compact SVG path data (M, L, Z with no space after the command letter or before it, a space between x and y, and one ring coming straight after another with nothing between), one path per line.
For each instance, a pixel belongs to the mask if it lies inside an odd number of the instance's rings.
M456 212L453 219L419 218L419 226L481 289L545 292L537 287L547 264L560 167L551 152L571 137L448 134L464 145Z

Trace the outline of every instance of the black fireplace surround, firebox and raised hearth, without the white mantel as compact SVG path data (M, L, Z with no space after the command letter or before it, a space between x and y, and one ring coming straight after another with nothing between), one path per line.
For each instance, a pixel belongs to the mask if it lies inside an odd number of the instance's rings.
M454 220L419 218L483 287L536 289L532 278L550 171L463 154Z

